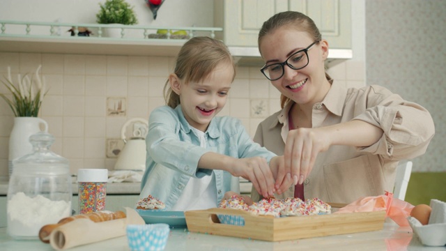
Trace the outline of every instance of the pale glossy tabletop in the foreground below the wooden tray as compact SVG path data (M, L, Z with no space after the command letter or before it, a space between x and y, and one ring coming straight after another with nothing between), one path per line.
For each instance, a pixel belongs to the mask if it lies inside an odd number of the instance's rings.
M52 250L51 246L36 241L15 241L0 228L1 250ZM72 248L81 250L130 250L127 238L121 236L107 241ZM165 250L429 250L445 251L445 247L427 247L413 237L410 227L399 228L386 222L384 229L357 234L344 234L295 241L256 241L252 239L196 234L187 229L171 229Z

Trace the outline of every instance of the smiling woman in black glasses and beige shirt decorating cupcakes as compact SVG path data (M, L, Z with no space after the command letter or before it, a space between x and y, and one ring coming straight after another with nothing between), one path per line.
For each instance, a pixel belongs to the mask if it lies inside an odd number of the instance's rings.
M284 155L277 198L350 203L392 192L398 161L424 154L434 135L424 107L382 86L346 88L325 73L328 41L302 13L263 23L261 73L282 93L282 110L259 124L254 141ZM374 84L374 83L368 83ZM287 189L282 178L291 174ZM279 187L279 185L282 186ZM252 191L252 199L262 197Z

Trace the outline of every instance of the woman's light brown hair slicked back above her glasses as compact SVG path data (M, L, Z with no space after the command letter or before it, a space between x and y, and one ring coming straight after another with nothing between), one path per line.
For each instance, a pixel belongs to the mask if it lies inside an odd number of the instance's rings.
M321 32L319 32L318 27L316 24L314 24L314 21L310 17L297 11L285 11L273 15L270 17L270 19L266 20L266 22L263 22L262 28L259 31L259 38L257 39L259 50L262 39L283 26L293 27L297 31L306 32L314 41L322 40ZM260 52L260 54L261 53L262 52ZM326 72L325 77L327 79L331 79L330 75L328 75ZM280 106L282 108L289 101L290 99L286 98L286 96L283 94L280 96Z

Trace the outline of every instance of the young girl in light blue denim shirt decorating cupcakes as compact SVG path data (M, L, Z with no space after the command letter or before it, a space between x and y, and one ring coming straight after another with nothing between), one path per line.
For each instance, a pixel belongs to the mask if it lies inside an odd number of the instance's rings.
M164 86L167 106L149 116L141 198L157 197L171 211L213 208L225 192L239 191L240 176L273 195L283 158L254 143L238 119L216 117L235 74L219 40L196 37L183 45Z

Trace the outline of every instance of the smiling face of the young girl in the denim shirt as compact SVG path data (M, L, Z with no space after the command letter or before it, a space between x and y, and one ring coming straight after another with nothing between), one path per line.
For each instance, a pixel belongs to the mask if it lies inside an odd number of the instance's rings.
M185 84L178 78L171 81L172 89L180 96L181 109L190 126L206 131L210 121L226 105L233 75L231 64L222 62L201 82Z

